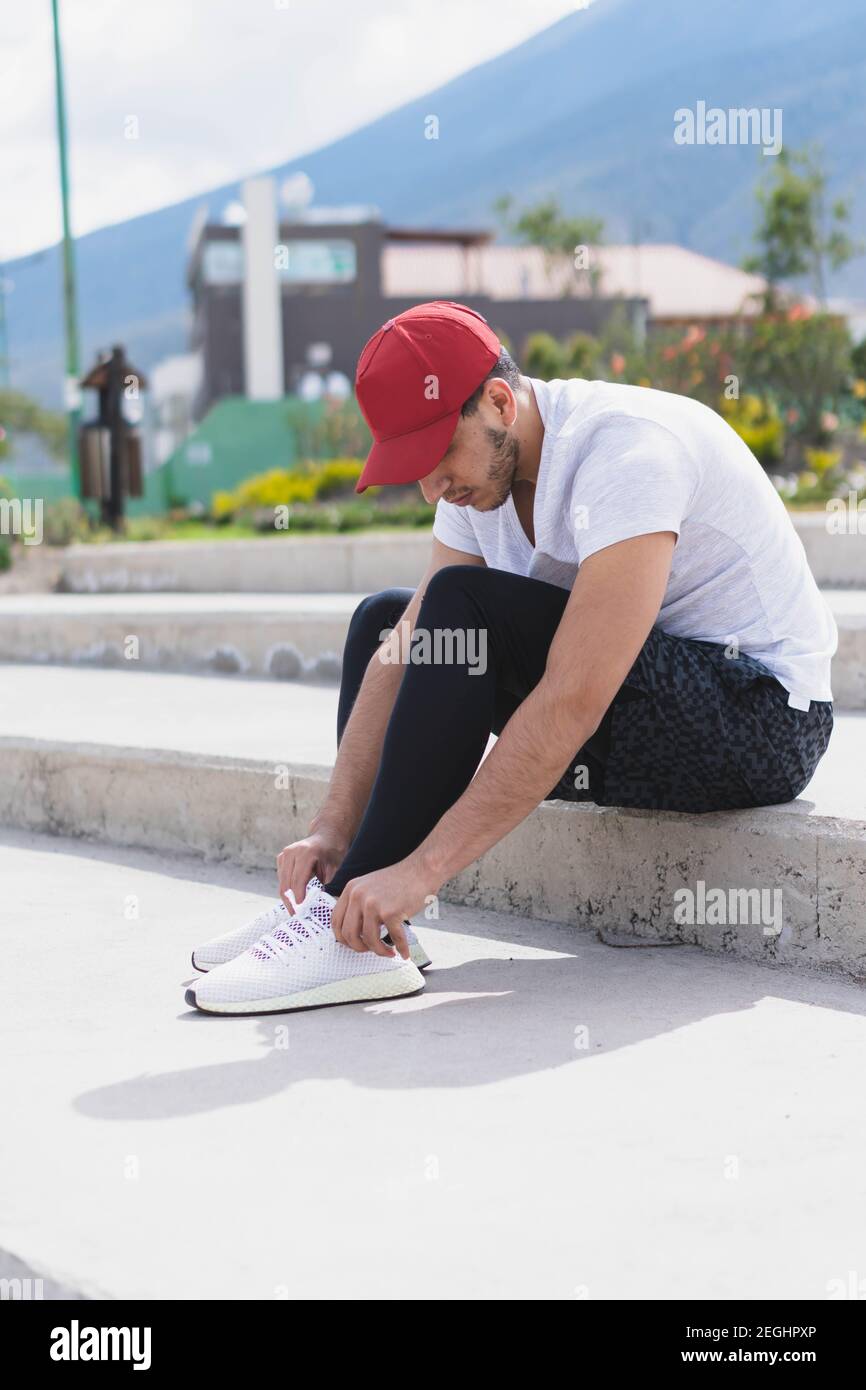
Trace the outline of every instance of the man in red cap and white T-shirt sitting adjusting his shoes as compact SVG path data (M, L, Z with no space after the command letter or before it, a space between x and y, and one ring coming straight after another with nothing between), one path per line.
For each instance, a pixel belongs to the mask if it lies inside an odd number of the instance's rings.
M413 994L428 960L406 919L545 798L785 802L833 728L835 624L713 410L528 379L446 302L386 322L356 386L359 491L417 480L430 567L359 605L325 802L278 856L282 901L195 952L206 1012Z

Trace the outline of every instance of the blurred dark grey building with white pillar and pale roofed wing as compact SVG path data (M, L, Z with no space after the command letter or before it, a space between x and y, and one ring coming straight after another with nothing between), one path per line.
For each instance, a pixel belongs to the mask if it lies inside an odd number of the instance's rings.
M517 357L530 334L598 334L614 310L655 324L749 311L756 275L681 246L606 246L589 268L488 231L389 227L375 208L304 208L278 220L272 179L243 185L232 217L193 228L188 279L200 361L192 413L225 396L271 400L348 389L388 318L425 299L477 309Z

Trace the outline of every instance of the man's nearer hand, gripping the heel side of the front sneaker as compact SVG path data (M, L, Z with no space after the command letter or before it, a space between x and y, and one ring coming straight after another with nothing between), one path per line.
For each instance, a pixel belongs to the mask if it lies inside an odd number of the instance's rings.
M331 917L334 935L353 951L393 956L393 949L381 940L381 930L386 927L399 954L409 960L403 919L420 912L427 898L441 887L430 880L411 855L391 869L350 878Z

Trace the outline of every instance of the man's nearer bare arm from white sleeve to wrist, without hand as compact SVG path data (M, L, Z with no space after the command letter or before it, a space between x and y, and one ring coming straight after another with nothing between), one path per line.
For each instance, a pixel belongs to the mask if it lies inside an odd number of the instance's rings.
M620 541L580 567L545 674L410 860L445 883L518 826L598 728L659 614L676 535Z

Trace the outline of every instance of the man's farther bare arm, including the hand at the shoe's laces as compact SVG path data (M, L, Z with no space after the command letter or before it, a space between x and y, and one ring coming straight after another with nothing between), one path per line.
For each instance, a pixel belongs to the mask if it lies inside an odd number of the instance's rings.
M403 613L392 642L400 641L400 630L411 637L418 609L432 575L448 564L484 564L481 556L455 550L435 537L424 578L418 584ZM406 630L403 624L409 623ZM382 646L386 644L382 642ZM288 845L277 858L279 891L291 887L297 901L303 897L311 873L331 877L352 842L375 780L382 753L388 720L398 698L405 666L399 660L382 660L382 648L367 666L357 699L341 738L336 762L325 799L310 821L309 835Z

